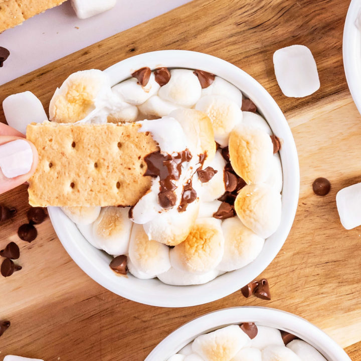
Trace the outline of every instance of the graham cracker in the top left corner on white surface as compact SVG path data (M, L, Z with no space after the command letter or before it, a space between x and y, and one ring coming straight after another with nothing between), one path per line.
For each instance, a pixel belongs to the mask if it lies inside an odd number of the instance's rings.
M0 0L0 33L64 2L65 0Z

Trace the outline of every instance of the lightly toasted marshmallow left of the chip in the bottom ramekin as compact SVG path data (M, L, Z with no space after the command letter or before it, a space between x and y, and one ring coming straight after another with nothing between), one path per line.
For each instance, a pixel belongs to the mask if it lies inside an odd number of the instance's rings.
M231 360L249 341L248 335L237 325L220 328L198 336L192 349L205 361Z

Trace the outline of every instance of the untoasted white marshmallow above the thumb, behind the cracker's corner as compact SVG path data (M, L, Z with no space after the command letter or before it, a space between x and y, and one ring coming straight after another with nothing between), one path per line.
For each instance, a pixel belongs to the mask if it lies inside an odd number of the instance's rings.
M27 125L48 120L41 101L30 91L9 95L3 101L8 124L26 134Z

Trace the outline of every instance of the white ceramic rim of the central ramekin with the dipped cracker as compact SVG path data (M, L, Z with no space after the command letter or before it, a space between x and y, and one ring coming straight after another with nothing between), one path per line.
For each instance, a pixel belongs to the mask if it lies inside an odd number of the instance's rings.
M182 50L165 50L125 59L105 72L112 85L130 77L142 67L202 69L214 73L241 89L257 105L273 132L283 139L280 157L283 167L282 219L278 230L268 238L259 256L249 265L228 272L203 285L170 286L158 279L141 280L117 276L110 268L111 257L91 246L60 208L49 207L54 229L78 266L108 290L130 300L162 307L185 307L225 297L256 278L274 259L291 229L299 195L299 168L296 146L282 111L267 91L250 75L213 56Z

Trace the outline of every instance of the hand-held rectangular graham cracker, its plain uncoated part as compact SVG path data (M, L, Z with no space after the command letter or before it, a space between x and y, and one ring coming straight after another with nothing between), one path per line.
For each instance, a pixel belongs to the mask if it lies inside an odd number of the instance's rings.
M29 179L29 204L134 206L151 186L144 156L158 149L139 123L29 124L39 153Z

